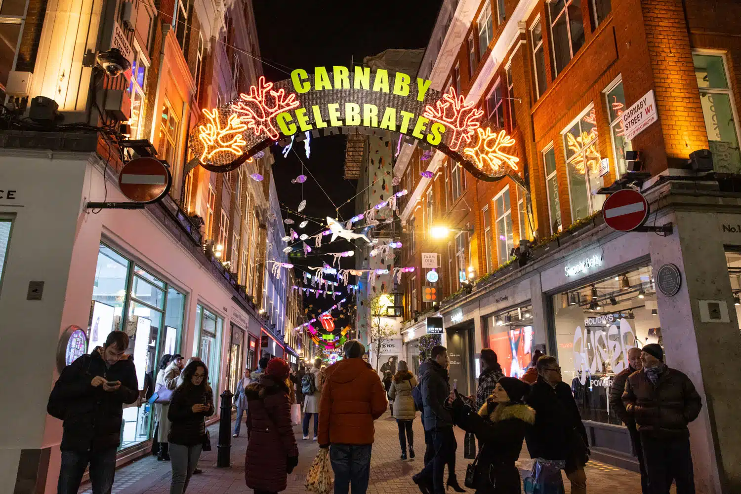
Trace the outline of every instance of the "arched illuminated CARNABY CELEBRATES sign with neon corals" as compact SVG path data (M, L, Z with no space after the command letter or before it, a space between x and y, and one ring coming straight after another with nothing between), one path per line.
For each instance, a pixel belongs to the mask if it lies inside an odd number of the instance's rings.
M273 142L313 132L348 133L370 127L411 136L451 156L476 176L495 181L517 170L514 138L451 87L368 67L296 69L290 79L260 77L249 93L213 110L190 133L190 149L208 170L225 172Z

